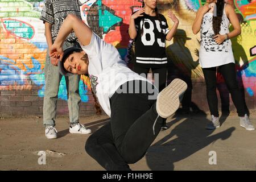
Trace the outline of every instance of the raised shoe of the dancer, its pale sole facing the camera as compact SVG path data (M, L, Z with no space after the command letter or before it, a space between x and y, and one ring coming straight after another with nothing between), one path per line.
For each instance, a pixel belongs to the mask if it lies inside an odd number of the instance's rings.
M176 112L185 90L187 90L187 84L183 80L175 78L158 94L156 111L160 117L168 118Z

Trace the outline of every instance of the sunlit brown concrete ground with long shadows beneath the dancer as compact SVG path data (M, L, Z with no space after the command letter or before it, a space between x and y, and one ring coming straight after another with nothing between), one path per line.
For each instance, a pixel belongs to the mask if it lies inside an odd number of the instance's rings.
M256 114L250 115L256 126ZM239 126L238 117L221 117L221 127L205 130L205 115L175 115L168 118L168 130L160 131L146 155L132 170L256 170L256 131ZM80 123L96 131L108 122L106 115L80 118ZM69 119L58 118L59 138L46 139L42 118L0 119L0 170L104 170L84 150L89 135L69 134ZM46 155L39 165L37 151ZM214 153L216 152L216 153ZM210 153L210 155L209 155ZM216 164L212 158L216 154Z

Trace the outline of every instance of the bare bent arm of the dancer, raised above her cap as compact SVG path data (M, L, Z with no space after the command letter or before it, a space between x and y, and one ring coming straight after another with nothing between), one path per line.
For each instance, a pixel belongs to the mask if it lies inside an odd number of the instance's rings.
M60 58L63 55L63 43L67 36L74 31L79 42L83 46L87 46L90 43L90 38L92 37L92 30L79 19L76 15L68 14L67 18L63 21L60 27L59 34L55 42L50 49L50 55L52 57Z

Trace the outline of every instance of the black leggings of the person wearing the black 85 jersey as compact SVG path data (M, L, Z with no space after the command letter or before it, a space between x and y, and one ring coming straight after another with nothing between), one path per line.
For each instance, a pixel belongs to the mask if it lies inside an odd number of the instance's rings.
M151 68L153 74L159 74L159 92L161 92L165 87L166 87L166 73L167 73L167 68ZM144 73L145 75L148 74L150 71L150 68L141 68L138 67L137 65L134 66L134 72L138 73L141 75ZM155 85L158 87L158 85Z

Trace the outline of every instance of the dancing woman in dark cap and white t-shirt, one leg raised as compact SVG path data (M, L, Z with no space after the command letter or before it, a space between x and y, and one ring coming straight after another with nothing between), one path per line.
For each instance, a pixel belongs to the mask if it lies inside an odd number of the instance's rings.
M67 35L75 31L82 49L63 51ZM164 118L179 107L187 84L175 79L158 94L146 78L131 71L117 49L104 42L75 15L69 14L51 47L63 75L89 73L92 90L110 122L90 135L85 150L107 170L129 170L158 135ZM156 99L157 97L157 99Z

